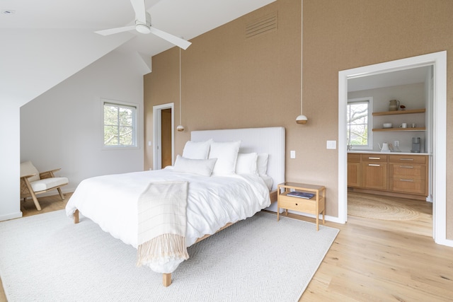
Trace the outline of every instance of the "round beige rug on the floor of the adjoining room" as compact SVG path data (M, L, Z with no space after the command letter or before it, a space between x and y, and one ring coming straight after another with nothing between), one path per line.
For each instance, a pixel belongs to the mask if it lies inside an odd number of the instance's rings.
M348 215L379 220L415 220L420 213L386 197L348 192Z

